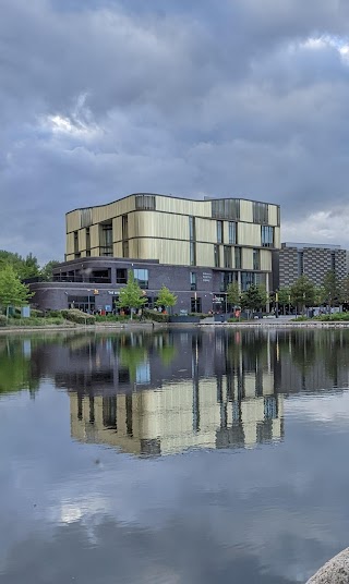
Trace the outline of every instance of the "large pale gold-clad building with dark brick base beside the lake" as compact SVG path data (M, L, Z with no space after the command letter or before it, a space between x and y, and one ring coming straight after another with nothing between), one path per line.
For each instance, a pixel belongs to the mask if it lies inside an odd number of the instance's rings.
M53 282L32 285L33 302L108 311L131 269L149 306L165 284L178 295L177 312L224 312L230 282L273 289L279 246L278 205L134 194L67 214L65 261Z

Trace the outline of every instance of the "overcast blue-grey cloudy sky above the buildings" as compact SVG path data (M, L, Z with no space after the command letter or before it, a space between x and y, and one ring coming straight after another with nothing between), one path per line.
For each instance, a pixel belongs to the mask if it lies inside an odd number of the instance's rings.
M2 0L0 248L135 192L281 205L349 248L347 0Z

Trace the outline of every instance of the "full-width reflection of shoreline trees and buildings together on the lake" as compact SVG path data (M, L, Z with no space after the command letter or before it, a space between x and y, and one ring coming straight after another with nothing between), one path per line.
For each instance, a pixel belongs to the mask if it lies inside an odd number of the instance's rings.
M0 339L0 394L69 392L71 431L137 454L284 436L284 398L349 387L347 330L171 330Z

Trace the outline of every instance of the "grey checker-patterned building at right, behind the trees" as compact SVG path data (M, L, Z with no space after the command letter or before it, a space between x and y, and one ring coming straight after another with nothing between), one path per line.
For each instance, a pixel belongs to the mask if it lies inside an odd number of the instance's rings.
M328 271L340 280L347 275L347 252L340 245L312 243L282 243L273 258L275 290L292 285L300 276L308 276L315 285L322 285Z

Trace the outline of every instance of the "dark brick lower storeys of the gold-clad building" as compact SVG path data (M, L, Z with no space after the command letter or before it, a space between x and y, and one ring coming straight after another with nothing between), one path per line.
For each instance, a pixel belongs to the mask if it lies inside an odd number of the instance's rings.
M225 294L220 291L222 270L196 266L167 266L155 260L113 258L84 258L61 264L53 270L55 281L31 284L31 290L35 292L32 304L41 309L62 309L71 306L69 300L75 297L76 303L79 299L82 299L82 302L83 299L88 299L95 309L108 309L112 307L112 301L118 297L118 291L122 288L122 283L117 283L117 269L120 268L148 270L148 288L144 293L149 299L151 306L165 284L178 296L174 313L181 309L193 312L193 302L196 302L194 312L225 311ZM101 278L94 276L98 270L108 271L108 281L101 282ZM191 290L191 272L196 275L196 290ZM220 304L215 303L216 299L219 299Z

